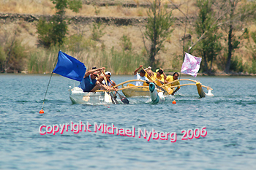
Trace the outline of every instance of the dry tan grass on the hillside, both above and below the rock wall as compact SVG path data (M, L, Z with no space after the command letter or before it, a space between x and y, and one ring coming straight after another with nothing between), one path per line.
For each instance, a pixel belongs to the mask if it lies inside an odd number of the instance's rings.
M100 0L102 1L102 0ZM118 0L116 0L118 1ZM132 0L130 0L132 1ZM136 4L145 3L146 0L133 0ZM172 0L173 3L178 4L178 7L184 12L188 13L189 16L195 15L197 12L197 7L195 7L195 1L188 0ZM126 1L119 1L125 3ZM168 0L162 1L162 3L170 4ZM53 15L55 13L54 5L50 0L1 0L0 1L0 12L2 13L29 13L37 15ZM189 10L187 11L187 8ZM99 12L96 14L96 10ZM81 15L81 16L104 16L104 17L140 17L147 16L146 11L148 9L143 7L138 8L128 8L121 7L121 5L114 7L95 7L93 5L83 4L83 8L80 9L80 12L76 14L71 10L67 10L67 15ZM175 17L184 17L183 14L178 9L173 10L173 16ZM6 23L0 27L0 34L4 34L4 30L10 30L13 32L16 28L19 30L19 38L23 39L23 44L28 45L31 49L37 48L37 34L36 34L36 23L26 23L24 21L19 21L18 23ZM188 25L189 26L189 25ZM249 29L252 31L256 30L256 26L249 26ZM142 27L144 31L144 28ZM135 53L143 52L143 38L138 26L105 26L105 35L102 36L99 42L95 42L97 47L101 47L103 44L107 51L110 51L112 47L115 47L116 50L121 50L120 39L121 36L129 36L129 39L132 42L132 50ZM189 28L187 28L187 34ZM83 36L86 39L89 39L91 36L91 24L82 26L82 25L71 25L69 26L69 36L73 34L80 34L83 32ZM241 34L241 33L238 33ZM182 55L182 42L181 37L184 35L184 26L175 26L175 29L171 36L167 39L165 43L165 48L157 55L157 58L163 63L164 69L173 68L173 60L177 55ZM192 42L196 41L195 35L192 35ZM148 43L147 43L148 45ZM63 49L65 51L65 49ZM248 53L245 53L246 49L243 47L239 50L236 50L235 55L243 58L243 61L249 61L249 57L246 56ZM73 53L67 51L70 55L74 55L76 58L80 59L87 66L105 66L106 63L100 61L97 53L89 53L83 51L81 53ZM45 54L46 56L47 54ZM200 57L200 56L198 56ZM183 57L181 57L183 59ZM38 61L40 62L40 61ZM108 66L111 66L111 63L108 63ZM135 66L136 68L137 66ZM111 69L111 68L110 68ZM40 71L42 72L42 71Z

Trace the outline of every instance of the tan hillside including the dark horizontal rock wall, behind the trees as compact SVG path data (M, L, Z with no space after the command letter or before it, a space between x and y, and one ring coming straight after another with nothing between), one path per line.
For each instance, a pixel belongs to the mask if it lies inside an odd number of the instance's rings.
M33 4L34 3L34 4ZM188 39L195 42L197 37L193 35L192 21L195 18L196 7L194 1L164 1L167 10L173 10L173 16L176 23L173 26L174 31L165 42L165 47L159 53L157 58L164 69L173 70L181 65L182 40ZM41 6L40 6L41 5ZM26 6L26 7L25 7ZM19 8L17 8L19 7ZM102 45L110 50L112 47L121 50L120 39L122 36L128 36L132 42L132 50L135 53L143 53L143 34L144 26L147 20L146 11L149 4L147 1L83 1L83 7L78 14L67 10L67 16L71 20L69 25L69 35L83 34L86 39L91 37L92 23L104 23L104 35L99 41L95 42L96 47ZM186 10L189 15L189 25L187 34L184 36L184 15L175 7ZM46 18L54 14L53 4L48 0L33 1L28 4L25 0L12 1L3 4L0 2L0 35L12 36L15 30L18 30L18 37L23 45L37 48L37 30L36 24L41 16ZM241 34L241 33L237 33ZM0 39L3 41L3 38ZM146 44L149 45L149 44ZM244 48L236 51L236 55L241 56L243 61L247 61ZM217 66L214 66L218 70Z

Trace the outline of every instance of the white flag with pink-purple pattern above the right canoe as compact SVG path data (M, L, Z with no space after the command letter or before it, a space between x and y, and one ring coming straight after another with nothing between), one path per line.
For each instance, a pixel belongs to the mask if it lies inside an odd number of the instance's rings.
M184 62L181 67L181 73L197 77L197 72L200 69L202 58L195 57L189 53L185 54Z

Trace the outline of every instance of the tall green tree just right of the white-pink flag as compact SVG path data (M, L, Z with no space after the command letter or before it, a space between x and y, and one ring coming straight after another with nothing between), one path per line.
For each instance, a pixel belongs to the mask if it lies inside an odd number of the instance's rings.
M197 0L199 8L198 18L195 22L195 31L197 38L203 39L198 42L195 51L203 57L203 72L211 73L212 64L222 47L219 39L222 34L217 34L217 23L214 22L215 13L213 11L211 0Z

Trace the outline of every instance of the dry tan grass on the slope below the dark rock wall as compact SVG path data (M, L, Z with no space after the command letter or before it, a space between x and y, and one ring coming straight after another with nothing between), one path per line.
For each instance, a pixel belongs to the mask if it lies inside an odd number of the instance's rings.
M23 45L28 45L31 47L31 50L37 48L37 34L36 34L36 27L35 23L26 23L24 21L19 23L9 23L4 24L0 28L0 33L4 34L4 30L10 30L10 33L13 34L15 28L19 29L19 39L23 39ZM105 45L106 51L110 51L112 47L116 50L121 50L121 36L126 35L132 42L132 50L135 53L142 53L143 52L143 38L142 34L140 33L140 29L138 26L113 26L113 25L106 25L104 28L105 35L102 36L99 42L95 42L95 46L100 49L102 44ZM142 31L144 28L142 27ZM90 25L70 25L69 26L69 36L73 34L80 34L83 32L83 36L85 39L89 39L91 37L91 24ZM171 34L170 38L167 39L165 42L165 48L157 55L157 59L163 63L162 68L164 69L173 69L173 60L176 58L177 55L182 55L182 41L180 40L181 37L184 35L184 27L183 26L176 26ZM195 35L192 35L192 41L195 42ZM147 45L149 45L147 43ZM224 44L225 45L225 44ZM61 49L66 51L65 49ZM241 48L236 50L236 55L243 58L244 62L248 61L248 57L246 58L246 53L244 53L246 49ZM86 52L82 51L81 53L72 53L67 51L70 55L74 55L74 57L78 58L80 61L86 63L86 66L106 66L106 63L102 63L102 58L99 58L97 53L94 52ZM198 56L200 57L200 56ZM181 56L183 59L183 57ZM38 61L39 62L39 61ZM51 65L50 65L51 66ZM50 68L49 66L49 68ZM109 69L111 63L108 63ZM40 69L39 69L40 71ZM111 70L112 71L112 70Z

